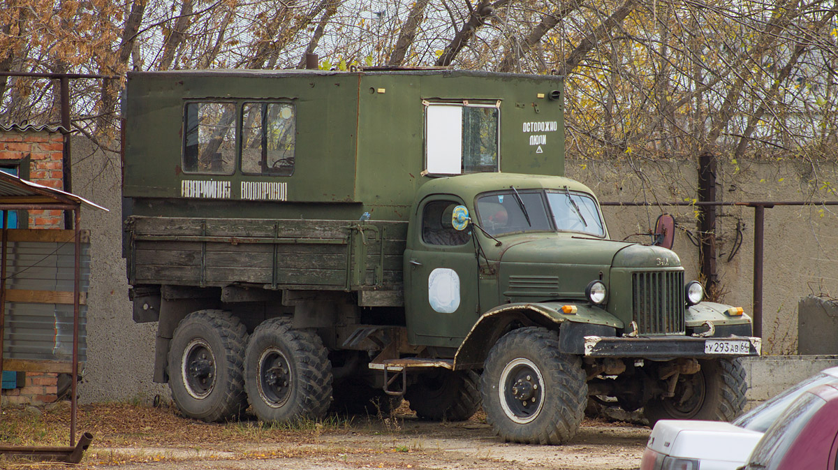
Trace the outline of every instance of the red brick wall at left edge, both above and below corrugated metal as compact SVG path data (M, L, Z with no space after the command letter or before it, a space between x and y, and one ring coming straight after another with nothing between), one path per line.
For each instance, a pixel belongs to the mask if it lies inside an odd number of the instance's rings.
M62 151L64 136L49 131L0 130L0 164L25 162L19 174L33 183L63 189ZM64 217L60 210L28 211L28 228L63 229ZM23 385L23 386L21 386ZM3 404L43 404L55 401L58 374L28 372L26 383L18 388L3 390Z

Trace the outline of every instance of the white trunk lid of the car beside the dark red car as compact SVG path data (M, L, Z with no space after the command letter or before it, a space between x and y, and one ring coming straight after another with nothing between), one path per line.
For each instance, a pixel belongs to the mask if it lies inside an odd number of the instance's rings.
M647 447L671 457L729 462L713 467L732 470L747 462L762 436L727 422L661 420L654 425Z

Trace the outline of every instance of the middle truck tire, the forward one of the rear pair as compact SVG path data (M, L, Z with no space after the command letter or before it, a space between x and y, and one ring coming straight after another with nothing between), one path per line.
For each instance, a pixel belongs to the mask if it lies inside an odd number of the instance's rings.
M261 323L247 343L245 390L260 421L322 418L332 399L332 365L315 333L291 328L287 318Z

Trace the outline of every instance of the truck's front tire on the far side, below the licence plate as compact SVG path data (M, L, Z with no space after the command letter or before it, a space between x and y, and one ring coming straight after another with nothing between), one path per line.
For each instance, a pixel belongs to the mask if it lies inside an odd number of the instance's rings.
M731 421L745 406L745 369L737 359L708 359L698 361L701 370L693 375L681 375L675 386L675 397L654 398L644 405L644 416L649 426L658 420ZM696 399L679 405L685 385L691 381L701 387Z

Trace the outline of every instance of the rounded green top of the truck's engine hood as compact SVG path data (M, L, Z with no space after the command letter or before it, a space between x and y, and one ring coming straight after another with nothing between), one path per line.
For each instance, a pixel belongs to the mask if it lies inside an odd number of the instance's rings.
M613 267L674 267L680 259L660 246L568 235L519 235L504 239L501 261Z

